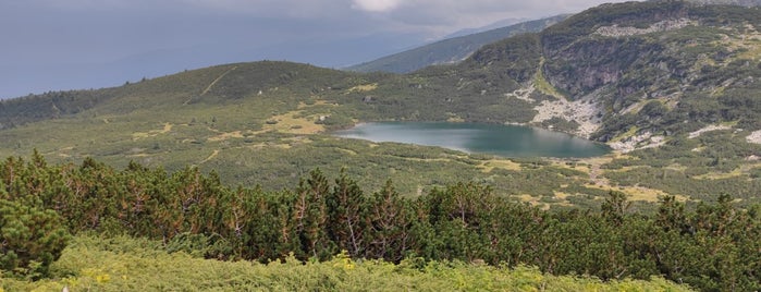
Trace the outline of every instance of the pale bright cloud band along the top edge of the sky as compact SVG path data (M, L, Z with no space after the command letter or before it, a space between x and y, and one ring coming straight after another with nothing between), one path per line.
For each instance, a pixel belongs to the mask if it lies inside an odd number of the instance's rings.
M505 19L539 19L623 0L25 0L38 7L94 12L165 12L196 15L347 22L359 29L441 35ZM13 3L15 1L9 1ZM0 8L2 3L0 3ZM305 28L305 32L309 27ZM355 28L355 27L347 27Z

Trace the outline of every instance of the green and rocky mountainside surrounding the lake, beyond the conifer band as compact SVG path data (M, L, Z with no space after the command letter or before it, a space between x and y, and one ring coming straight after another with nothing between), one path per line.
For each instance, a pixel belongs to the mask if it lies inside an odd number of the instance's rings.
M371 190L392 179L409 195L467 178L548 208L596 206L610 190L642 204L759 203L759 8L627 2L410 74L263 61L32 95L0 102L0 156L193 165L268 190L318 167L346 167ZM617 151L548 162L327 135L388 120L517 123Z

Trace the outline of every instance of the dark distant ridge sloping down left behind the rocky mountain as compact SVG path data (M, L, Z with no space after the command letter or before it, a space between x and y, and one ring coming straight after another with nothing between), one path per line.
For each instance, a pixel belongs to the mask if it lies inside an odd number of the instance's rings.
M356 72L393 72L409 73L434 64L456 63L468 58L474 51L487 44L521 33L536 33L555 24L568 15L524 22L482 33L458 36L440 40L412 50L386 56L375 61L346 68Z

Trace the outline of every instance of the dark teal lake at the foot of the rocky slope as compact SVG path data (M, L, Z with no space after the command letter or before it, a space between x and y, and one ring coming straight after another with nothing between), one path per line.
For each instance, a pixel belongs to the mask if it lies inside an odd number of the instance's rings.
M440 146L504 157L594 157L611 151L604 144L520 125L450 122L377 122L337 131L336 136L372 142Z

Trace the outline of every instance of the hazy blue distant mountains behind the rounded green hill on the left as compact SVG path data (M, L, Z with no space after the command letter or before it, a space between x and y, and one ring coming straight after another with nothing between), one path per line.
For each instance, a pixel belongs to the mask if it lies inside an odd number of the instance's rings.
M216 23L214 27L220 25L213 21L211 23ZM72 60L63 58L45 63L25 62L23 59L8 60L8 63L0 61L3 66L0 70L0 99L70 88L119 86L127 81L135 82L143 77L154 78L183 70L245 60L291 60L341 68L418 46L425 41L425 36L408 33L271 40L266 36L250 36L250 29L241 28L254 24L233 22L225 25L224 27L236 27L235 29L241 32L226 32L220 35L217 35L217 32L209 32L210 38L205 39L208 44L176 45L172 48L146 49L123 54L109 52L105 53L109 57L103 60L85 63L76 63L76 56L71 58ZM266 23L254 26L268 27ZM247 37L232 37L233 40L230 40L225 38L228 34ZM222 42L226 45L219 46Z

